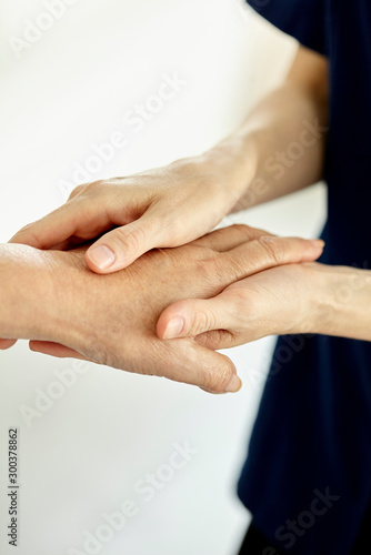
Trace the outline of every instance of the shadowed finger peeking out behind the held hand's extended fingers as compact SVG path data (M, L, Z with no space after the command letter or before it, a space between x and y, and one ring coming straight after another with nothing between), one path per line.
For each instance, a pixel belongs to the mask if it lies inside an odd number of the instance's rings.
M208 246L217 252L225 252L263 235L271 234L249 225L234 224L212 231L194 241L194 244Z

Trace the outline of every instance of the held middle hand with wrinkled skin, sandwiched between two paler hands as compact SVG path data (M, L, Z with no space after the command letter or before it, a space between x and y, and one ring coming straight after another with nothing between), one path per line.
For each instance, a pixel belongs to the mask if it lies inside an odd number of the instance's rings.
M43 251L52 268L58 325L46 321L44 336L32 339L48 342L31 342L31 349L166 376L217 393L237 391L240 380L228 357L192 339L159 340L159 315L179 299L214 296L247 275L313 260L321 252L321 242L267 238L265 232L244 225L218 230L178 249L151 251L107 276L87 270L83 250Z

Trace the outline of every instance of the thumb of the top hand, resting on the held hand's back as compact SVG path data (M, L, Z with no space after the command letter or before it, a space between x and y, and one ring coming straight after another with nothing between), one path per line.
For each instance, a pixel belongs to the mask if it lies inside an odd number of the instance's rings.
M87 264L93 272L117 272L131 264L144 252L160 246L156 219L142 216L132 223L106 233L86 253Z

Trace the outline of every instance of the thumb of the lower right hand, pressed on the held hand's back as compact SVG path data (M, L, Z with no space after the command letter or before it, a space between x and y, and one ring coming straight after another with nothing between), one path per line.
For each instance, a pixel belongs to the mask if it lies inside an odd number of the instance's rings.
M223 294L213 299L186 299L168 306L157 323L162 340L195 337L213 330L228 330L235 324L235 311Z

